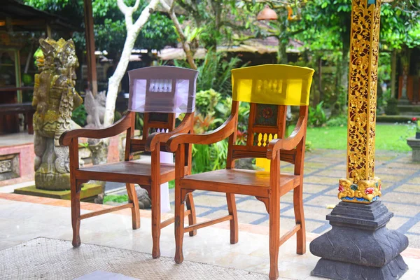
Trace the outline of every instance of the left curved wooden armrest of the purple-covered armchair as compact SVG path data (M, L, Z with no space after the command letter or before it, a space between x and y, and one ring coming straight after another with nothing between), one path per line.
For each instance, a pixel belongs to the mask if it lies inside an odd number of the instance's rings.
M121 132L125 132L132 125L132 113L127 113L123 118L118 120L110 127L99 128L99 129L77 129L77 130L68 130L64 132L61 137L59 137L59 144L62 146L69 146L71 140L79 137L93 138L93 139L102 139L113 137Z

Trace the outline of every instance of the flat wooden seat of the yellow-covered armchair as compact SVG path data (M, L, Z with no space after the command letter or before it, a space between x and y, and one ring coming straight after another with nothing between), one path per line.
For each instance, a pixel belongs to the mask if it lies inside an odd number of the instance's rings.
M245 169L220 169L193 174L181 179L182 188L211 190L269 197L269 172ZM300 176L280 174L280 194L283 195L300 184Z

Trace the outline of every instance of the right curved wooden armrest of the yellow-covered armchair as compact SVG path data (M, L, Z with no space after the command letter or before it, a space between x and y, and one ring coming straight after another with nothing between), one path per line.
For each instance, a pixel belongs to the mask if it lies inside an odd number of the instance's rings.
M269 141L267 146L267 159L274 160L276 158L276 153L279 150L293 150L297 144L300 143L304 137L304 127L306 126L306 117L300 116L297 120L297 125L292 134L286 139L273 139Z

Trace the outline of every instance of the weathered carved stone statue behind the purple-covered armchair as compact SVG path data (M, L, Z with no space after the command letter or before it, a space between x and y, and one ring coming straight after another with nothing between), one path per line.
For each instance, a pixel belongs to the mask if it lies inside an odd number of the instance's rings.
M35 75L34 150L35 186L44 190L70 188L69 147L59 146L61 134L75 127L71 112L83 99L74 89L78 59L70 39L39 40L43 57ZM73 125L74 124L74 125Z

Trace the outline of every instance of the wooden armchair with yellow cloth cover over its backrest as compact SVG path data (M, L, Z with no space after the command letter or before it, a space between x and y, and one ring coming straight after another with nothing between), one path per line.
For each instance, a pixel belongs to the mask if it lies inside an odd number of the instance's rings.
M302 202L303 160L308 118L309 89L313 69L288 65L262 65L232 70L232 113L228 120L208 134L178 134L167 141L176 151L175 174L175 262L183 261L183 235L215 223L230 221L230 243L238 241L235 194L253 195L269 214L269 279L277 279L279 246L297 233L297 253L305 253ZM250 102L246 145L236 144L239 102ZM300 106L295 130L288 138L286 106ZM226 168L202 174L186 174L185 144L213 144L229 138ZM235 169L239 158L265 158L268 171ZM293 174L280 172L280 161L295 165ZM184 202L194 190L226 193L228 215L184 227ZM293 190L296 225L280 237L280 197Z

